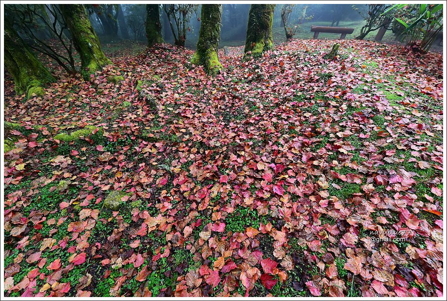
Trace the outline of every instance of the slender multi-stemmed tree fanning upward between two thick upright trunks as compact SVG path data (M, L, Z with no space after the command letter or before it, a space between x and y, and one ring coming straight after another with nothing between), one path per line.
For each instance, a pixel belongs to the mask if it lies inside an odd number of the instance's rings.
M186 34L191 31L189 27L191 16L196 12L198 6L198 4L163 4L163 10L168 17L175 45L185 46ZM175 28L172 19L174 19Z

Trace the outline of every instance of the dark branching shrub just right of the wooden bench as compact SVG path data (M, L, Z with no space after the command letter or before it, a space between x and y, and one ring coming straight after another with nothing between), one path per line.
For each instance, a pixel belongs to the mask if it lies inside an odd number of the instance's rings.
M390 4L366 4L368 5L368 10L365 12L359 11L360 15L366 21L366 24L360 29L360 34L355 37L357 40L363 40L367 34L372 31L375 31L381 27L388 27L388 25L392 22L392 19L389 18L389 14L386 14L385 11L391 7ZM354 9L358 9L355 5Z

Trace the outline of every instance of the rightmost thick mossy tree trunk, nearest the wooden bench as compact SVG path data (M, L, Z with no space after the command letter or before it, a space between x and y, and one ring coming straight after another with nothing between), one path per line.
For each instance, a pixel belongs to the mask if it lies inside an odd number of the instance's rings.
M248 13L247 39L244 52L259 57L273 49L273 11L275 4L251 4Z

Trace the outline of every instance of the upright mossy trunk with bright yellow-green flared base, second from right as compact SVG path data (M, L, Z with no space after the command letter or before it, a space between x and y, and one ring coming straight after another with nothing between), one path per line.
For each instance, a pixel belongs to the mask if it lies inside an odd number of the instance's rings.
M222 22L222 4L202 4L201 24L197 51L191 62L205 67L206 72L215 74L221 68L217 58L217 46Z

